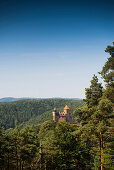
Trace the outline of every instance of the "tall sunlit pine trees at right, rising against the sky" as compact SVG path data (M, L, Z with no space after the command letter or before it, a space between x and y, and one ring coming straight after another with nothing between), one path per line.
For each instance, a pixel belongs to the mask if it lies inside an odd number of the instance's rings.
M89 88L86 88L85 106L76 110L77 121L81 124L77 133L83 140L90 140L94 146L93 151L100 148L100 168L112 167L112 118L114 110L114 46L105 50L111 57L102 68L101 75L106 82L106 88L98 83L94 75ZM110 153L110 154L109 154ZM106 158L107 157L107 158ZM96 159L97 155L96 155ZM107 161L108 160L108 161ZM109 161L110 160L110 161Z

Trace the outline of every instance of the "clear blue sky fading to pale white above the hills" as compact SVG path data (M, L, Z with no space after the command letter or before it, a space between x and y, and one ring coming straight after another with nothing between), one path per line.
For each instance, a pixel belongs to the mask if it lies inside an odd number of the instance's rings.
M114 0L0 0L0 98L84 98L113 41Z

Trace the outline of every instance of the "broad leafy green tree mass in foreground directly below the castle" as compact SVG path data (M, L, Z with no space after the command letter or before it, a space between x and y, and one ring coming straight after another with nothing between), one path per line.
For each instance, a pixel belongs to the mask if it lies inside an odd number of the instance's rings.
M47 169L91 169L88 147L75 135L77 127L67 122L44 122L39 136ZM49 157L52 160L49 163ZM90 159L88 159L90 158Z

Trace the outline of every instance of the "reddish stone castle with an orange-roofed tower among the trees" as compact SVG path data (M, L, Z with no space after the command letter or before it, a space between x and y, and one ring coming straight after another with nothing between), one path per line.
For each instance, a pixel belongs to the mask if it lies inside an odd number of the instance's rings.
M72 118L70 116L70 109L69 107L66 105L64 108L64 112L57 112L56 108L54 108L53 110L53 120L56 122L59 121L66 121L69 123L73 123Z

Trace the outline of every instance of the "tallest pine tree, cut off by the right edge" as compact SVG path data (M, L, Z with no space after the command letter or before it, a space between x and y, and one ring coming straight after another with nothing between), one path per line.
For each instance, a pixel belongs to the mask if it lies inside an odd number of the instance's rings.
M104 153L104 166L108 168L113 167L113 117L114 117L114 43L113 46L107 46L105 52L109 53L110 57L102 68L100 74L106 82L106 88L104 90L104 96L99 104L100 112L108 115L107 131L104 134L105 140L105 153Z

